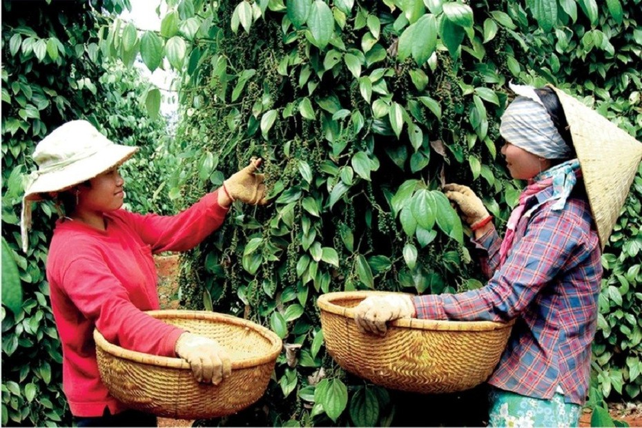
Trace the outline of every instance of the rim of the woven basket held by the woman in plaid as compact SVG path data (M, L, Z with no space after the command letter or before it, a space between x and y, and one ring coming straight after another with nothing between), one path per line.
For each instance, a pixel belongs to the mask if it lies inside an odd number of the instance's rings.
M354 319L354 309L342 307L335 304L334 301L338 299L356 299L366 298L369 295L386 295L386 294L406 294L414 296L411 293L397 293L394 291L333 291L331 293L324 293L317 298L317 305L322 312L333 313L341 315L346 318ZM509 329L513 326L515 320L507 322L498 321L455 321L455 320L426 320L419 318L400 318L391 321L389 326L400 327L403 329L418 329L418 330L431 330L431 331L492 331Z

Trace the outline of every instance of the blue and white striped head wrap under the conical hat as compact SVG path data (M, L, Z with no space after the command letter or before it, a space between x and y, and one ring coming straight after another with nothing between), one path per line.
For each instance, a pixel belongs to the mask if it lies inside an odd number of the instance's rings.
M509 84L518 95L506 108L499 127L504 139L544 159L570 157L566 144L532 86Z

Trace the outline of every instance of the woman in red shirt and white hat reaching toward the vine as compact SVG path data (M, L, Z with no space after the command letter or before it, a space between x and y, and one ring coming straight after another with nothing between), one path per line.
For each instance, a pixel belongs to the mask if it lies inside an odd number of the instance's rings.
M152 255L202 242L222 224L233 200L266 202L258 159L182 213L130 213L121 209L118 166L136 150L114 144L88 121L70 121L37 145L33 159L39 169L23 198L24 251L31 202L53 198L64 208L46 271L63 351L63 389L79 427L156 426L155 416L127 409L101 382L95 328L126 349L184 358L200 382L217 385L230 375L231 360L215 340L144 313L159 309Z

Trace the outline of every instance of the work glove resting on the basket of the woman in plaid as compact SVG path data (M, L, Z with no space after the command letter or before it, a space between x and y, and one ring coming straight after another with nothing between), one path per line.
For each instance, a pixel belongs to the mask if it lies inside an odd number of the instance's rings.
M407 294L372 295L354 309L354 320L362 332L385 335L386 322L412 318L415 305Z

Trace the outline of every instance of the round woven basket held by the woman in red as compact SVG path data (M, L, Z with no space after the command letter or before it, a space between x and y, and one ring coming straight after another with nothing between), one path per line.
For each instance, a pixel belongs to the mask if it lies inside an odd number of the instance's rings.
M107 342L95 330L100 376L117 400L157 416L206 419L234 414L263 395L282 348L275 333L221 313L147 313L217 340L230 353L232 374L219 385L200 383L185 360L129 351Z

